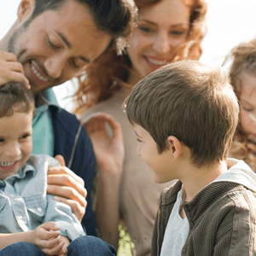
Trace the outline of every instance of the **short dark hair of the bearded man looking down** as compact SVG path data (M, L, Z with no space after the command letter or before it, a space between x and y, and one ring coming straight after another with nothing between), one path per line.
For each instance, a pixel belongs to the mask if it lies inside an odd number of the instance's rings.
M119 51L125 47L125 42L121 45L122 41L119 41L119 45L115 44L117 38L128 37L135 24L137 8L133 0L36 0L35 9L26 21L26 26L44 11L61 9L68 1L82 3L88 7L96 26L112 36L109 47L116 46Z

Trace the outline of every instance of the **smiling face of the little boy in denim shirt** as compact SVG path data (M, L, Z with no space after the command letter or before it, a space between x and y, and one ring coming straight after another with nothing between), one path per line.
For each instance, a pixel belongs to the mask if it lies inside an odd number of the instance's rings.
M20 170L32 152L32 110L0 118L0 179Z

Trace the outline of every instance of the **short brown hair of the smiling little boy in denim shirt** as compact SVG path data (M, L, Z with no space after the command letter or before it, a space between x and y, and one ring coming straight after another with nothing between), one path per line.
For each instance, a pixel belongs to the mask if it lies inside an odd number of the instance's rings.
M0 86L0 118L12 116L15 112L29 113L34 108L34 96L25 84L9 82Z

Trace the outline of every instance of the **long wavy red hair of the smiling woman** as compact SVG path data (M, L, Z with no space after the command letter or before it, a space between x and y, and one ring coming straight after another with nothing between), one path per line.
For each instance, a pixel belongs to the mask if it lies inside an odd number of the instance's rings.
M161 0L135 0L138 9ZM207 32L205 0L181 0L189 6L189 33L185 44L175 52L171 62L189 58L198 60L201 56L201 41ZM81 113L98 102L107 100L120 89L118 81L126 82L131 61L127 54L117 55L114 49L106 50L96 61L79 73L79 89L73 96L76 113ZM134 84L131 84L131 86Z

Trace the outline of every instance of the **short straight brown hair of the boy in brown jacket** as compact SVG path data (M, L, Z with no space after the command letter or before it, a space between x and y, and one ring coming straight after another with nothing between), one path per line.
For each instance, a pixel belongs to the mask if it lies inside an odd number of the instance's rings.
M197 166L225 160L238 122L239 105L221 67L177 61L150 73L131 90L124 110L131 124L153 137L161 154L167 137L191 150Z

